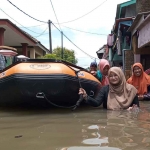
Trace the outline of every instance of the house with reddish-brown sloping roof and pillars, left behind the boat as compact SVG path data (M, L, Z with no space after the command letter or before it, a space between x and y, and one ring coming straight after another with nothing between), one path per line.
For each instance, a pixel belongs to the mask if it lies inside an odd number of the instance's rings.
M32 59L49 53L49 50L37 39L21 30L8 19L0 19L0 46L2 45L14 47L18 54Z

